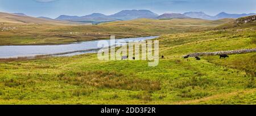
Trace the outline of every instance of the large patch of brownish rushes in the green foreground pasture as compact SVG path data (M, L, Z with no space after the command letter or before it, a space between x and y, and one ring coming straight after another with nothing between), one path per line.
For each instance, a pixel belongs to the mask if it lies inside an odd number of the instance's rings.
M58 76L57 80L77 86L89 85L97 88L114 88L131 91L156 91L160 89L159 81L139 79L135 76L128 77L115 71L77 72L73 76Z

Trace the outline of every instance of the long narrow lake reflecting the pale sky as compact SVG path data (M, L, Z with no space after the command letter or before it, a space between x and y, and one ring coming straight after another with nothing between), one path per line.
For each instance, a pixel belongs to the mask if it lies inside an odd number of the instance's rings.
M119 40L122 41L144 41L152 40L158 36L150 37L136 37L136 38L121 38L116 39L115 45L123 45L123 43L118 43ZM85 41L77 42L73 44L66 45L14 45L14 46L0 46L0 58L18 58L18 57L35 57L36 55L53 55L53 56L72 56L85 53L97 53L98 48L97 41ZM109 42L110 40L106 40Z

